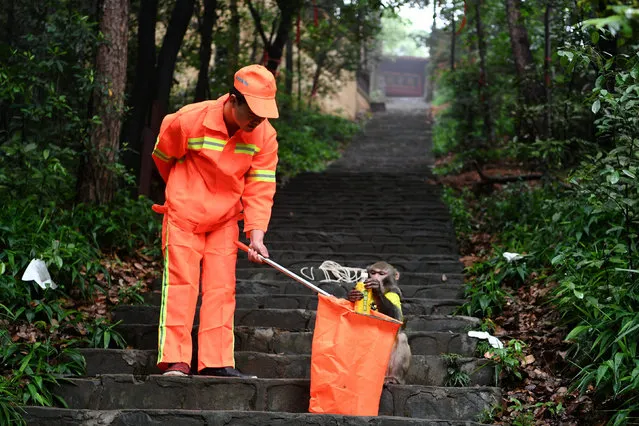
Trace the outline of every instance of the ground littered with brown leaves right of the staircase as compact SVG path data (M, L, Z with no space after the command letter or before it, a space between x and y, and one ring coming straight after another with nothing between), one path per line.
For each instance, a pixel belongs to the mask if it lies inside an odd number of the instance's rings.
M451 160L451 156L442 158L438 166L445 167ZM473 267L499 255L495 247L500 244L500 235L485 232L482 225L491 217L482 210L478 199L502 191L504 184L490 183L485 176L502 178L530 173L516 165L499 164L486 166L484 179L475 170L437 178L457 194L465 193L466 208L473 212L464 219L474 223L462 232L458 230L467 286L472 286L479 275ZM539 182L532 180L528 185ZM492 272L499 274L499 268L497 265ZM593 402L593 387L582 393L574 386L579 368L568 356L572 343L566 341L566 336L570 327L553 305L557 282L550 275L551 271L534 271L518 284L502 280L502 309L484 318L484 328L505 343L507 350L500 352L480 345L480 355L500 365L503 391L501 405L486 413L482 421L547 426L602 425L607 421L601 410L604 407L596 407Z

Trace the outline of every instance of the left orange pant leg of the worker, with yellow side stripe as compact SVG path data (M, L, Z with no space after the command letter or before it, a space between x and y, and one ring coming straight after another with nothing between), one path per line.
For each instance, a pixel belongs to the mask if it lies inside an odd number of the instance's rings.
M200 283L204 235L175 226L167 216L162 224L164 273L158 326L158 367L191 365L191 330Z

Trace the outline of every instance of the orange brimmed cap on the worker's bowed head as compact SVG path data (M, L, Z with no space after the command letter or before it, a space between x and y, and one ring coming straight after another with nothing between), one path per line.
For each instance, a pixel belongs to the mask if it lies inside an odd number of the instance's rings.
M262 65L249 65L235 73L233 86L246 98L251 111L259 117L280 116L275 103L275 77Z

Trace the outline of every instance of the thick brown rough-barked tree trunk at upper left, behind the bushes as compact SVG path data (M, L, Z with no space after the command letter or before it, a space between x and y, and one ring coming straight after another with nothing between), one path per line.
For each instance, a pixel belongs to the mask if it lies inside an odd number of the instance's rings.
M113 165L117 161L126 85L129 0L104 0L100 32L106 43L98 48L97 86L93 94L94 114L101 123L91 133L78 198L84 202L108 203L115 194Z

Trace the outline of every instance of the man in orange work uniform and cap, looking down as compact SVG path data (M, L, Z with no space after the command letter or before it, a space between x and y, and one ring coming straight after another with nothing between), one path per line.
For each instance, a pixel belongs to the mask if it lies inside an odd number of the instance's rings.
M238 220L249 259L268 257L264 234L275 194L279 116L273 74L249 65L230 92L167 115L153 151L166 202L158 367L166 375L247 376L235 368L233 316ZM197 367L191 329L200 292Z

